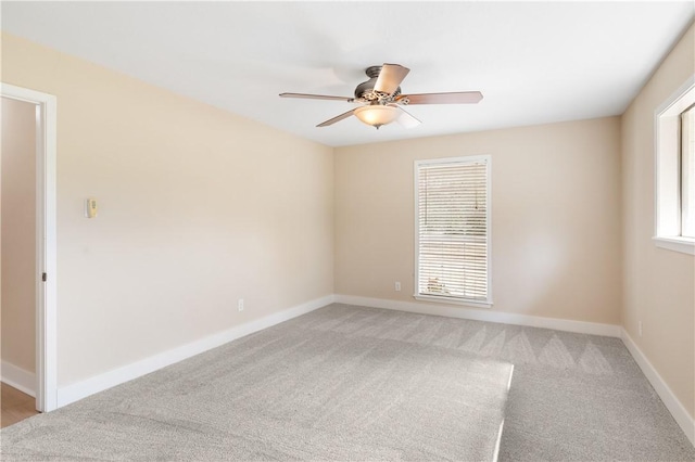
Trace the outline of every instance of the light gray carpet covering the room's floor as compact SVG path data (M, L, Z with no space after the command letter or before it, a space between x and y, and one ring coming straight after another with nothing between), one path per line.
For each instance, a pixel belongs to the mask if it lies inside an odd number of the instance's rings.
M2 460L694 461L622 342L331 305L0 432Z

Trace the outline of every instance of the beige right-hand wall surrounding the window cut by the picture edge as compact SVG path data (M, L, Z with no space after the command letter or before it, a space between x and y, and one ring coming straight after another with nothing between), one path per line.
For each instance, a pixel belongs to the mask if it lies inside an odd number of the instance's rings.
M694 43L691 26L622 117L626 271L622 322L692 416L695 416L695 257L657 248L652 236L654 113L695 73Z

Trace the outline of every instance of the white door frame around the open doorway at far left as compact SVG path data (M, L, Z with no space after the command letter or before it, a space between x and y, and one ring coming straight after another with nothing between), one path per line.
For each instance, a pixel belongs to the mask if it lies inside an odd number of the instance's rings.
M1 84L0 94L36 104L36 409L58 408L55 97ZM46 277L45 277L46 274Z

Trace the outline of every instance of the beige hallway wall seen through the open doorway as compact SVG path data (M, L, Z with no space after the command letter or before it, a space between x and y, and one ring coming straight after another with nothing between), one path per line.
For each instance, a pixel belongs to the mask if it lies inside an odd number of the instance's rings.
M2 106L2 361L36 370L36 108Z

